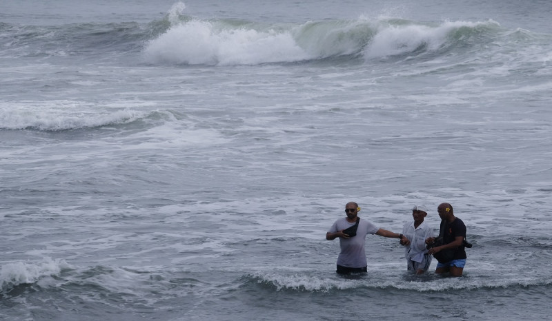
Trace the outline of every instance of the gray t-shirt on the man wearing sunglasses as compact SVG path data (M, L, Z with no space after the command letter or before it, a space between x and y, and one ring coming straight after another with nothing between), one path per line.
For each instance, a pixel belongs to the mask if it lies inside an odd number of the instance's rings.
M347 222L347 218L339 218L332 227L328 230L330 233L335 233L352 227L355 223ZM364 252L364 242L366 242L367 234L375 234L379 227L373 225L362 218L358 222L357 235L352 238L339 238L339 246L341 252L337 257L337 265L342 267L366 267L366 253Z

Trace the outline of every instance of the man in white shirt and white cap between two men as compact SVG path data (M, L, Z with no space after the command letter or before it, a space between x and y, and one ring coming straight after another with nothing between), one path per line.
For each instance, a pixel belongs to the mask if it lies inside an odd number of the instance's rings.
M410 240L404 245L404 257L408 271L415 271L416 274L422 274L429 269L433 256L427 253L426 238L432 236L433 231L426 225L424 218L427 216L427 209L424 205L416 205L412 209L413 222L404 223L402 234Z

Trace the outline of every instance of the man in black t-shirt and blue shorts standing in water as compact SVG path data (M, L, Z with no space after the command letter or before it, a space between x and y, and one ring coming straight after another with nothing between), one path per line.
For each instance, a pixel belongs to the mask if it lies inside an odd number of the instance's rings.
M453 207L449 203L442 203L437 207L437 213L444 222L441 225L440 235L443 236L443 245L432 247L428 254L440 251L453 251L452 260L448 262L437 263L435 273L442 274L450 272L451 276L462 276L464 265L466 265L466 251L464 249L464 239L466 238L466 225L464 222L454 216ZM426 244L433 244L435 238L427 238ZM435 256L437 258L437 256ZM438 258L437 258L438 260Z

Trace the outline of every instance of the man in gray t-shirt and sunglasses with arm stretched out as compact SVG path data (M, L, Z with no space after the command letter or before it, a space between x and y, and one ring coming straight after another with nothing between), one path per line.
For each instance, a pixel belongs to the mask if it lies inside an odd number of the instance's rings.
M337 273L339 274L367 271L366 253L364 251L364 242L366 242L367 234L377 234L386 238L400 238L400 242L403 245L410 243L408 238L402 234L380 229L367 220L360 220L358 218L358 211L360 211L360 207L358 207L357 203L347 203L345 205L347 216L336 220L328 230L328 233L326 233L326 240L339 238L339 246L341 247L341 251L337 257Z

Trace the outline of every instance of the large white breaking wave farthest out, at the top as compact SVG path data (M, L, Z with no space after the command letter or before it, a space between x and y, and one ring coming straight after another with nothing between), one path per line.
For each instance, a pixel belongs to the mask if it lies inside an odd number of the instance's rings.
M339 57L374 59L420 55L475 45L480 34L493 34L495 21L445 21L427 25L404 19L308 21L297 24L201 20L173 6L170 27L146 43L148 63L178 65L255 65ZM473 41L473 39L476 39Z

